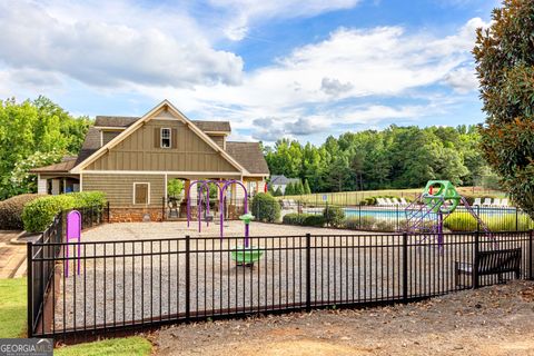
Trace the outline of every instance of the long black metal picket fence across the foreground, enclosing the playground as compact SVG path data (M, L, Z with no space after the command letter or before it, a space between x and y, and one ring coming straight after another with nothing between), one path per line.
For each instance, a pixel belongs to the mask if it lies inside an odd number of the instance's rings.
M446 234L443 244L407 234L265 236L250 244L263 253L253 267L234 260L246 251L241 237L86 241L81 271L68 277L62 267L77 258L66 251L76 244L28 245L29 335L83 338L206 318L407 303L516 277L459 276L457 264L477 269L475 251L520 248L520 277L533 278L532 231ZM46 250L53 253L39 253ZM46 285L37 270L50 276Z

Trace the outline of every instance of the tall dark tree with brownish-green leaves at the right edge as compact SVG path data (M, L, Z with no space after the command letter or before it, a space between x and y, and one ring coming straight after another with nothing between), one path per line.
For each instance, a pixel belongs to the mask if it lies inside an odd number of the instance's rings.
M486 120L482 148L515 202L534 218L534 2L505 0L473 50Z

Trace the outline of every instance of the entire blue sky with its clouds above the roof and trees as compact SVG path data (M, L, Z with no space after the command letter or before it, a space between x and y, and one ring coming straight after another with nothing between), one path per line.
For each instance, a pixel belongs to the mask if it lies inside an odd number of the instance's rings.
M169 99L234 139L477 123L488 0L0 0L0 98L141 116Z

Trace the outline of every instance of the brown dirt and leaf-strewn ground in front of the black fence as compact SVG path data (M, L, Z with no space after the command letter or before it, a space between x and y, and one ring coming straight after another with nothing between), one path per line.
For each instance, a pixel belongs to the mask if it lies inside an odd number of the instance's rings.
M534 283L365 310L179 325L158 355L534 355Z

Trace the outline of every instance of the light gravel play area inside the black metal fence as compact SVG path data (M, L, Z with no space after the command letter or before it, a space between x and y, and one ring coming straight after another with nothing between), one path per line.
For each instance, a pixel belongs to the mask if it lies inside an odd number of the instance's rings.
M191 316L257 313L301 307L306 300L306 233L310 233L312 305L400 298L402 236L254 222L251 246L264 251L254 267L236 266L231 250L243 246L243 222L218 226L186 222L108 224L82 234L80 274L69 264L58 284L52 328L120 326L136 320L184 317L189 268ZM189 264L185 235L190 235ZM234 236L234 238L231 238ZM266 237L275 236L275 237ZM411 296L461 289L455 263L471 261L468 236L438 248L414 237L407 249ZM75 251L71 250L70 256ZM467 281L471 284L471 280Z

